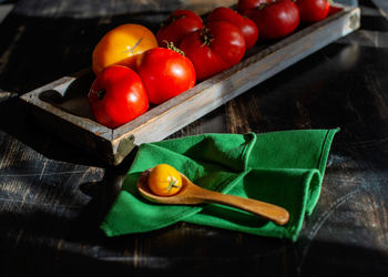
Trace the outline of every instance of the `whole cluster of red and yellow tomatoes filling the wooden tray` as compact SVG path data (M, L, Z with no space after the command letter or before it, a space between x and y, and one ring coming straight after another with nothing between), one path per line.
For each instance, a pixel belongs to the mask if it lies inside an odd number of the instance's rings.
M239 0L237 11L219 7L204 23L176 10L156 35L139 24L106 33L93 51L96 79L89 92L94 117L115 129L237 64L257 40L279 39L299 22L327 17L328 0Z

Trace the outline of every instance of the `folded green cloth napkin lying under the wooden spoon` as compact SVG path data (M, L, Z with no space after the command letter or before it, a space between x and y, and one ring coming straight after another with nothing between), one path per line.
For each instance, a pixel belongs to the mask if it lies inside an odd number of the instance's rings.
M142 233L187 222L296 240L305 215L316 206L330 144L338 130L264 134L202 134L142 144L111 211L101 224L106 236ZM165 163L207 189L285 207L279 226L217 204L154 204L136 191L140 174Z

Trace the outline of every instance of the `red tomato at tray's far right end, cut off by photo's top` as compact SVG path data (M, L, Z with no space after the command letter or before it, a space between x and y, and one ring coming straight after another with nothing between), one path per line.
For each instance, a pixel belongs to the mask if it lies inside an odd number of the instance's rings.
M296 4L299 8L300 21L303 22L324 20L330 9L327 0L297 0Z

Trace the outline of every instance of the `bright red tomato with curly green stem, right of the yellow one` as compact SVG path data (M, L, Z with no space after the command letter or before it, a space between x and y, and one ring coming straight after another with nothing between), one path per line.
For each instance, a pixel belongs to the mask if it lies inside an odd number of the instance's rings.
M150 102L161 104L195 85L193 63L186 57L166 48L145 51L137 60Z

